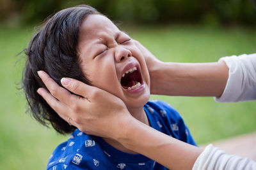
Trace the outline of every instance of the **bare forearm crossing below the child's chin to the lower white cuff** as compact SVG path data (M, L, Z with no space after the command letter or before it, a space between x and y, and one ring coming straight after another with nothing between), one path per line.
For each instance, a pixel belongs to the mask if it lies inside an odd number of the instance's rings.
M134 120L127 121L125 132L122 129L124 133L116 133L122 145L169 169L192 169L202 148L179 141Z

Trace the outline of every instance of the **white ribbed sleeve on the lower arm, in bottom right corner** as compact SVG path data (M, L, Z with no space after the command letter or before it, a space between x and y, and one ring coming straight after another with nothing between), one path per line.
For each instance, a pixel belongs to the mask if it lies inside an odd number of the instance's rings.
M252 170L256 162L236 155L228 155L223 150L208 145L196 159L192 170Z

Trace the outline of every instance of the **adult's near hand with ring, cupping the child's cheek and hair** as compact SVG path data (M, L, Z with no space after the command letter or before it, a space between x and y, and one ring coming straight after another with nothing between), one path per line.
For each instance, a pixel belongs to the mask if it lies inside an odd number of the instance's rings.
M116 139L123 133L118 132L118 129L124 129L125 124L129 124L133 118L123 101L109 92L72 78L61 79L65 89L44 71L38 71L38 75L49 90L40 88L38 94L63 120L80 131ZM79 96L71 94L67 89Z

